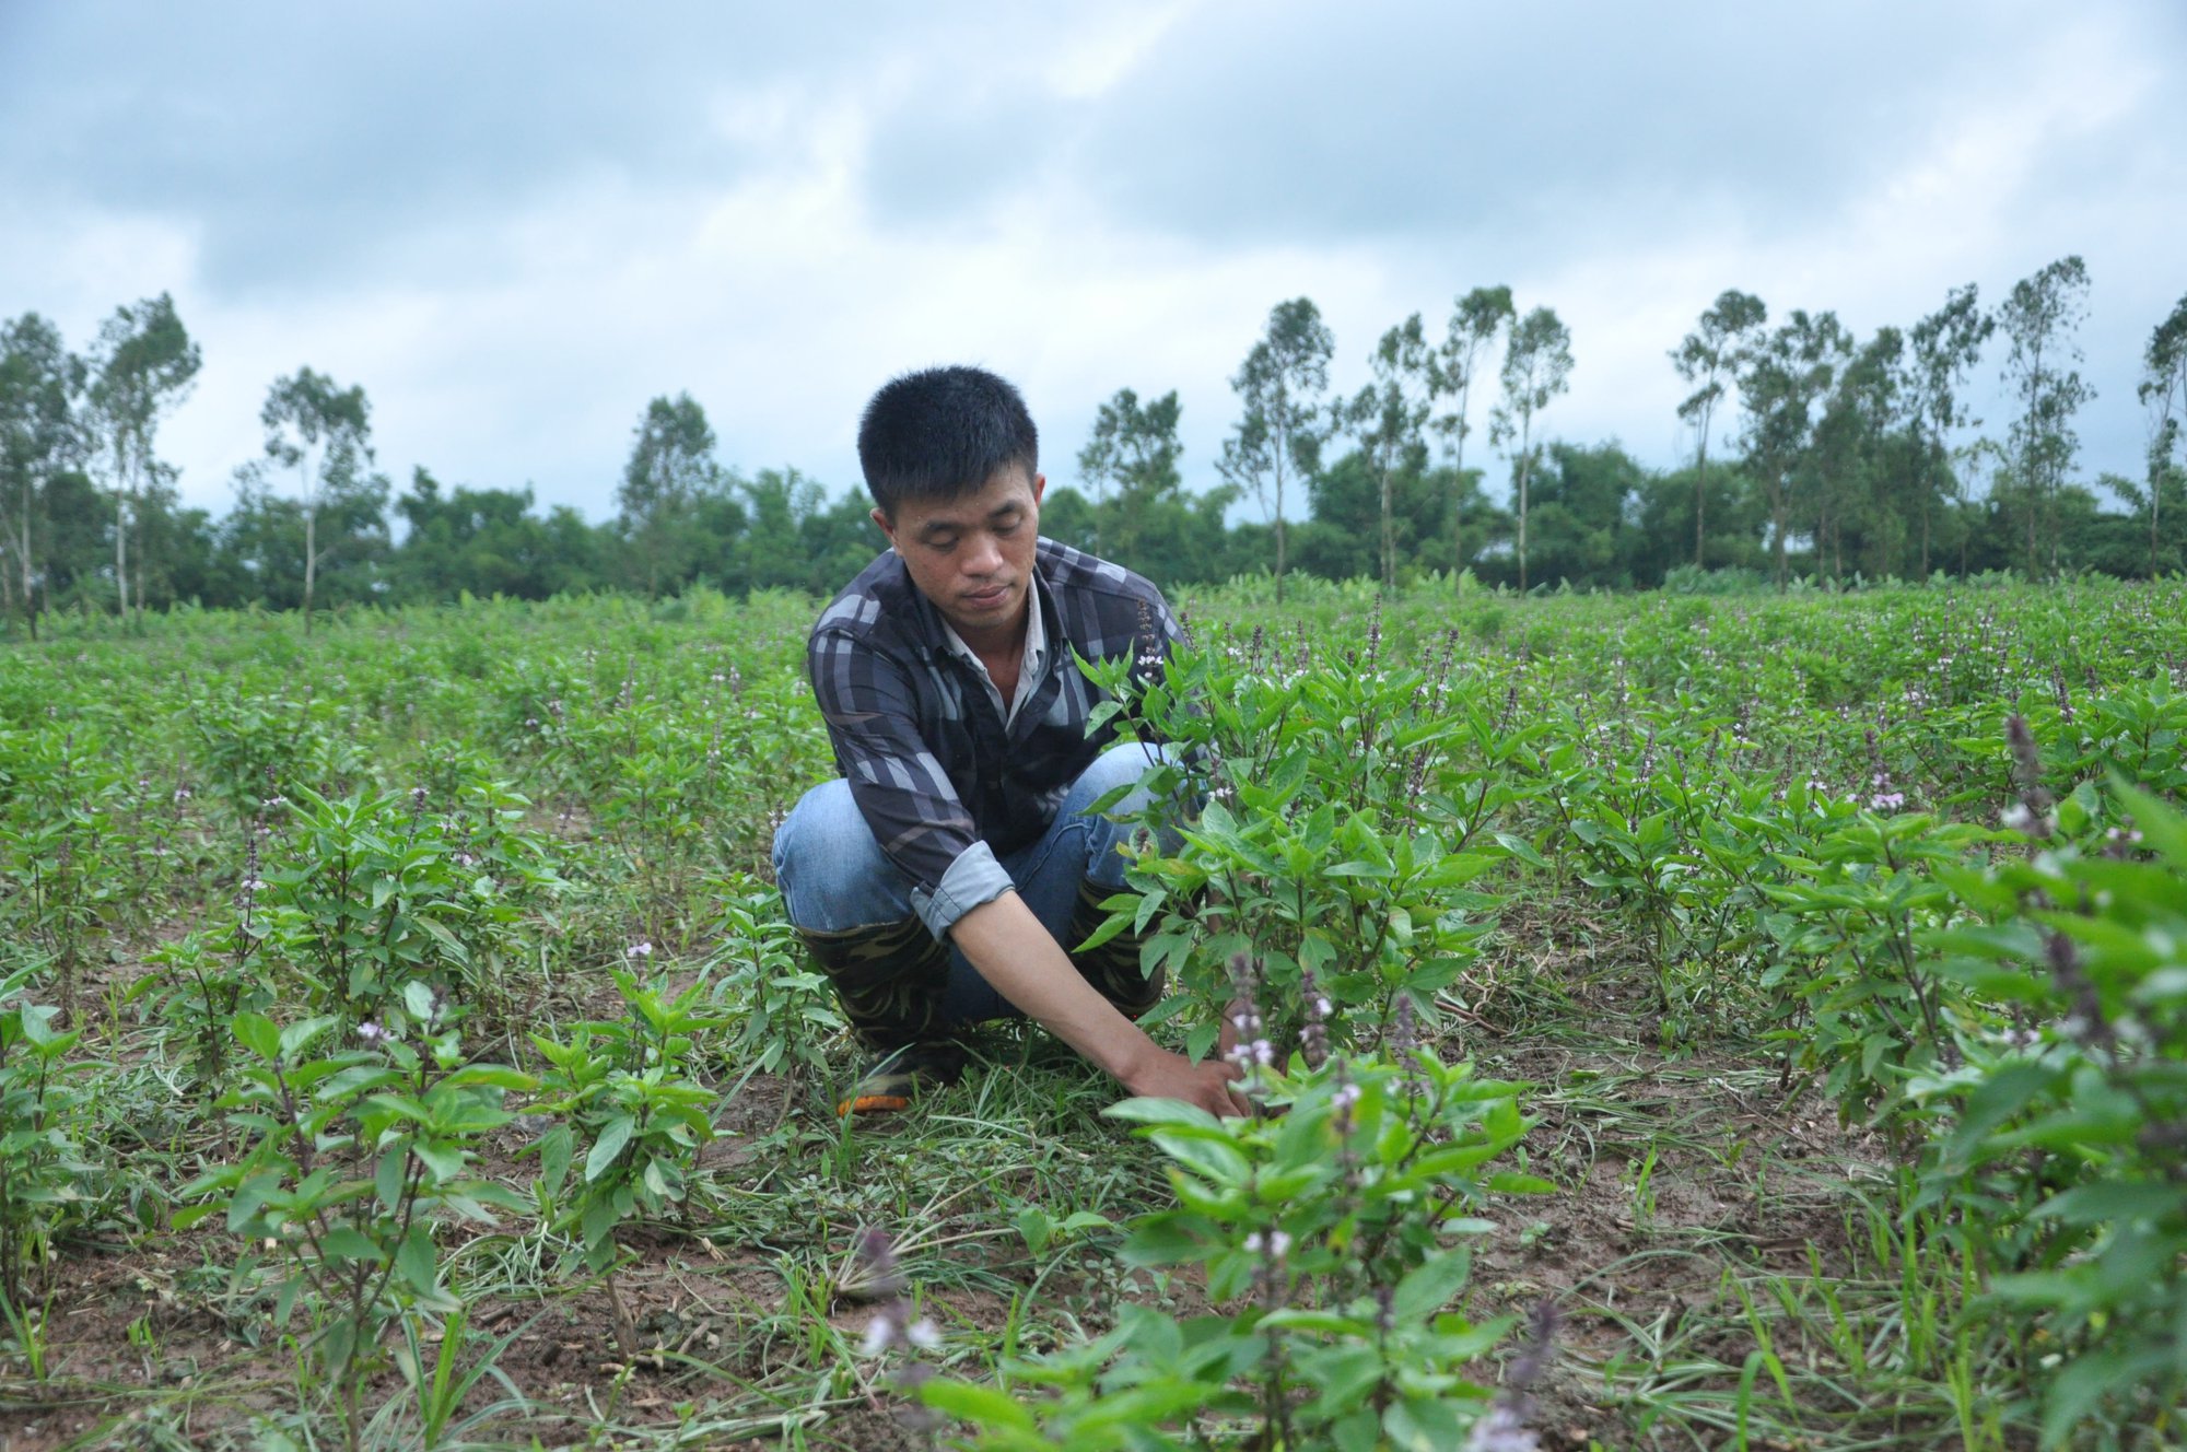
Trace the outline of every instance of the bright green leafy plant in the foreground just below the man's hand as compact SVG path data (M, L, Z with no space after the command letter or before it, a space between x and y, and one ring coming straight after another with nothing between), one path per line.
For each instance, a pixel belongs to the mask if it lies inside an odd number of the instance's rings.
M1487 1166L1524 1135L1520 1085L1432 1054L1293 1061L1264 1074L1282 1117L1216 1120L1126 1100L1172 1163L1177 1209L1139 1216L1124 1260L1203 1268L1220 1308L1177 1321L1126 1305L1118 1330L1006 1362L1017 1395L960 1380L921 1400L986 1452L1067 1448L1459 1448L1489 1391L1459 1373L1516 1316L1452 1308L1472 1279L1459 1238L1492 1227L1489 1194L1551 1185ZM1209 1439L1220 1426L1223 1435Z

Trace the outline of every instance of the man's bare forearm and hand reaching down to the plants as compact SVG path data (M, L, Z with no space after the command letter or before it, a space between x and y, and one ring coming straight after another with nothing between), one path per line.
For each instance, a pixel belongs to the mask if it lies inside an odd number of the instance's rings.
M949 929L949 938L995 993L1133 1093L1183 1100L1216 1115L1251 1113L1244 1096L1229 1085L1238 1078L1233 1065L1220 1058L1192 1063L1148 1039L1146 1030L1078 975L1069 956L1015 892L967 912Z

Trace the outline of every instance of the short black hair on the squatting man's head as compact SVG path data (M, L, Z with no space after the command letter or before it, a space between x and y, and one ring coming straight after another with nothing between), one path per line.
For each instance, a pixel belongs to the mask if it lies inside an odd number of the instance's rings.
M984 367L923 367L890 378L857 424L866 492L888 518L897 503L947 503L997 472L1039 468L1041 435L1015 387Z

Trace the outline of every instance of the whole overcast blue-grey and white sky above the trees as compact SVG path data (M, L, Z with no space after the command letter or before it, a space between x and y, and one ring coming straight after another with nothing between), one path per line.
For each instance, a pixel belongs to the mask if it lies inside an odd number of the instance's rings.
M1671 466L1719 291L1866 335L2080 254L2082 472L2139 472L2183 74L2176 0L0 0L0 317L83 348L173 293L206 365L160 453L214 512L308 363L398 488L601 518L656 394L840 492L866 396L945 361L1026 389L1054 483L1118 387L1179 389L1203 488L1275 302L1358 387L1494 282L1572 330L1551 435Z

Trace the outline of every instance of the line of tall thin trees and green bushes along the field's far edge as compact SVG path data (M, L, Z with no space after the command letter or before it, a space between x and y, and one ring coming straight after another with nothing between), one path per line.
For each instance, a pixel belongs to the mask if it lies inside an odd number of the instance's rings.
M1126 387L1100 405L1076 483L1050 490L1041 525L1159 584L1266 571L1277 597L1293 571L1384 586L1472 571L1524 590L1647 588L1688 569L1780 588L1793 575L2187 569L2187 297L2141 359L2143 477L2093 483L2075 477L2075 418L2093 400L2078 372L2086 297L2089 271L2069 256L1995 308L1966 284L1863 339L1835 313L1771 321L1761 297L1726 291L1669 350L1693 437L1691 464L1671 470L1548 431L1572 335L1548 306L1520 311L1509 286L1459 295L1441 337L1419 313L1389 328L1356 394L1330 389L1334 335L1297 297L1271 311L1229 380L1220 483L1183 488L1177 391ZM1997 431L1968 407L1986 361L2010 405ZM376 468L363 387L313 367L269 385L265 450L234 470L234 505L214 518L179 503L155 448L199 365L168 295L116 308L83 352L37 313L0 330L9 619L35 634L46 610L179 601L308 621L324 606L461 593L824 593L879 544L862 490L829 496L796 468L724 466L689 394L645 405L601 523L566 505L540 514L529 488L451 488L424 466L398 494ZM1483 453L1500 464L1496 496ZM1240 501L1262 520L1229 523Z

